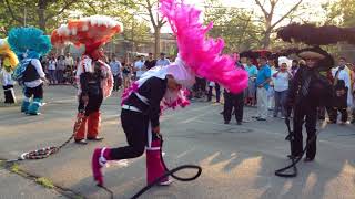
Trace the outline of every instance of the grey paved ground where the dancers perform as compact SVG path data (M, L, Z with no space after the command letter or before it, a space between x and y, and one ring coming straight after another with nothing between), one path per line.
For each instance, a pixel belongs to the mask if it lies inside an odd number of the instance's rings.
M74 93L68 86L48 87L48 104L38 117L23 116L18 107L1 108L0 158L14 158L22 151L65 140L75 114ZM48 159L20 163L20 168L87 198L106 198L108 193L93 184L90 158L95 147L125 145L118 104L116 93L104 102L104 142L88 146L70 144ZM197 164L203 167L203 174L193 182L175 181L170 187L153 188L142 198L355 198L354 126L328 125L320 135L316 160L301 163L297 178L283 179L274 176L275 169L288 163L283 122L277 118L255 122L251 116L256 109L246 108L248 123L224 125L221 109L220 104L193 103L185 109L164 114L161 130L166 139L164 151L169 167ZM0 180L2 178L7 176L0 176ZM105 169L105 185L115 198L133 196L145 185L145 157L129 160L126 165L111 164ZM2 189L0 184L0 191ZM18 191L10 190L7 196L19 196Z

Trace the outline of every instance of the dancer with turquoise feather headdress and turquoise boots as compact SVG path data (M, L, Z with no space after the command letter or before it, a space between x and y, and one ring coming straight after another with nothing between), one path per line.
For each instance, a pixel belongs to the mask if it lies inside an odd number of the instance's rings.
M36 28L16 28L9 32L8 42L20 60L13 77L23 87L21 112L39 115L43 101L43 83L47 82L39 59L51 50L50 38Z

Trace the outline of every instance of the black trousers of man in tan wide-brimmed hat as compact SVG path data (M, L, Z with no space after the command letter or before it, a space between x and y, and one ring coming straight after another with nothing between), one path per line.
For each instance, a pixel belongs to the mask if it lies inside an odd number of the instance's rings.
M313 159L316 154L316 122L317 122L317 107L312 106L307 103L302 103L296 105L294 109L294 135L295 139L293 143L292 155L300 156L303 151L303 135L302 127L305 123L307 132L307 143L310 143L308 149L306 151L306 157Z

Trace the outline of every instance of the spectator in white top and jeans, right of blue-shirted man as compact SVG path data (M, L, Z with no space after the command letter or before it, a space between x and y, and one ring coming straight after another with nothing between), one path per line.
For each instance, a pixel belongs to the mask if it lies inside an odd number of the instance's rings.
M282 118L286 116L285 103L287 100L288 81L292 78L292 74L287 71L287 64L282 63L280 71L273 75L274 90L275 90L275 107L274 117L277 117L281 111Z

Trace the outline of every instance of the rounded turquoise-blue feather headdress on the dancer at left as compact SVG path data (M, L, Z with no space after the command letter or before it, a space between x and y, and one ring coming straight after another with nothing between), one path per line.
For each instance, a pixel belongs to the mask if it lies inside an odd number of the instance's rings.
M52 49L50 38L37 28L14 28L9 32L8 42L20 60L39 59Z

